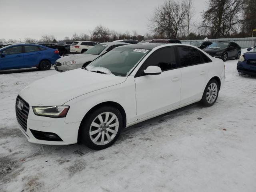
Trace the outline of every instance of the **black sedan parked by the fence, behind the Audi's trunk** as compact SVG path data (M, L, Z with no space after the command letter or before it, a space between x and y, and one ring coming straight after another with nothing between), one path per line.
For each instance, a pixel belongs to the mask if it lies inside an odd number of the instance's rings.
M221 58L224 62L229 58L239 59L241 47L235 42L218 41L203 49L213 57Z

